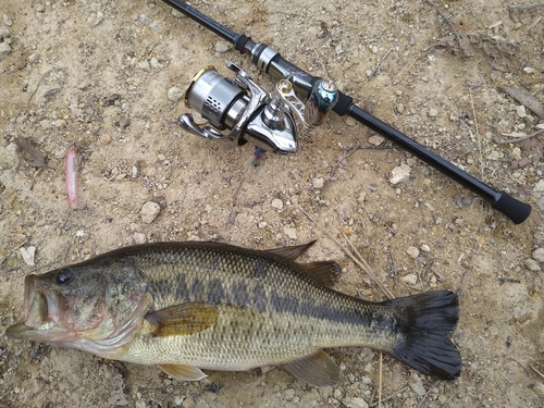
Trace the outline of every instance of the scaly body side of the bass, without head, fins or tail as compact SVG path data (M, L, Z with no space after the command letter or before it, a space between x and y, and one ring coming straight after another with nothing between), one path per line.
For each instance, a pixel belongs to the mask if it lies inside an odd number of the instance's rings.
M134 262L140 279L148 282L156 309L187 301L221 305L214 330L160 342L139 336L123 359L161 363L182 350L183 363L246 370L283 363L323 347L359 345L361 338L364 345L393 346L392 317L382 319L388 322L382 331L376 330L378 322L371 330L368 322L375 306L319 286L294 262L265 252L201 246L135 256ZM383 309L382 313L393 314Z

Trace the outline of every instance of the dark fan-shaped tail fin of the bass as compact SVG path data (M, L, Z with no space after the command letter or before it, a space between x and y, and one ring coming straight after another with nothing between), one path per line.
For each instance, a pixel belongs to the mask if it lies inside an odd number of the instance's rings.
M459 301L455 293L428 292L384 304L401 309L400 314L405 317L398 323L403 335L390 355L416 370L442 380L459 376L461 356L446 337L459 319Z

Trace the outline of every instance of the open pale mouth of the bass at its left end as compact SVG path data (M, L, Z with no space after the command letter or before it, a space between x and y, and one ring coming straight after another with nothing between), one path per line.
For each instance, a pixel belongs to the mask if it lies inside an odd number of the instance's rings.
M8 327L5 335L16 339L51 339L54 332L64 332L58 327L63 305L62 295L42 287L37 275L27 275L24 294L25 320Z

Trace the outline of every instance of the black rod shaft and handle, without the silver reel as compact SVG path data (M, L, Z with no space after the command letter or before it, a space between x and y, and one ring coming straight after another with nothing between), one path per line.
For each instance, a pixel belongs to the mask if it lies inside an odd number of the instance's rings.
M215 22L211 17L206 14L200 13L198 10L191 8L187 3L180 0L163 0L166 4L173 7L178 10L183 14L187 15L198 24L208 28L212 33L217 34L221 38L232 42L235 45L235 48L240 53L251 53L251 47L256 46L251 42L249 37L245 35L238 35L220 23ZM268 48L264 45L260 45L263 48ZM256 61L254 61L256 63ZM285 59L283 59L280 53L277 53L273 58L273 63L271 64L272 72L271 74L287 75L289 77L284 77L284 79L295 81L296 86L306 92L310 92L311 84L317 81L317 77L312 77L310 74L305 71L298 69L293 65ZM270 66L267 66L264 71L269 73ZM300 81L297 81L300 79ZM347 114L358 121L359 123L368 126L372 131L393 141L398 147L405 149L406 151L412 153L417 158L421 159L429 165L438 170L441 173L447 175L453 178L457 183L463 185L471 191L475 193L486 201L491 203L491 206L503 212L506 217L508 217L516 224L522 223L527 220L529 214L531 213L531 206L524 203L522 201L517 200L505 191L497 191L494 188L490 187L485 183L479 181L478 178L471 176L470 174L463 172L461 169L453 164L452 162L445 160L438 154L430 151L425 147L418 144L416 140L409 138L403 133L398 132L394 127L387 125L386 123L380 121L372 114L362 110L353 103L353 99L345 94L341 92L341 100L336 104L334 111L339 115Z

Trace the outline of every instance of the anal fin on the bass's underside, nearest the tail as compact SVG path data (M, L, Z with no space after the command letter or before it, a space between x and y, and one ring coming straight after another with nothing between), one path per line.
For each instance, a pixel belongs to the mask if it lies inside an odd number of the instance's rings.
M339 367L323 350L287 362L280 368L298 380L316 386L334 385L339 380Z

